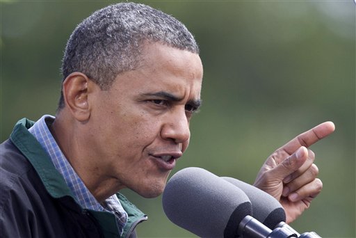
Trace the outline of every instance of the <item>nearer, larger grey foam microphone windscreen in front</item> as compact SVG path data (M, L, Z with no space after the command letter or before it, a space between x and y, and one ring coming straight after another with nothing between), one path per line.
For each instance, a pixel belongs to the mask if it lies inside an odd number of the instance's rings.
M184 168L168 181L162 197L168 219L199 237L235 237L252 214L241 189L202 168Z

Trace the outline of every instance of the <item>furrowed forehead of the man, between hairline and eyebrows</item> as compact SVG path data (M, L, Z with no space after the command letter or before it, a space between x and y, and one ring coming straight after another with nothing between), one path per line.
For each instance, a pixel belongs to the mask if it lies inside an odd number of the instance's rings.
M167 91L199 99L202 74L197 54L154 43L143 47L138 68L119 74L115 81L135 92Z

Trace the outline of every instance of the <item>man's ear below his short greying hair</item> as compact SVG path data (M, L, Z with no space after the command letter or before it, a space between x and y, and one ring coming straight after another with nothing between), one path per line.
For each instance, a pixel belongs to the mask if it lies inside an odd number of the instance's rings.
M63 81L63 99L72 116L81 122L90 118L88 94L92 81L81 72L73 72Z

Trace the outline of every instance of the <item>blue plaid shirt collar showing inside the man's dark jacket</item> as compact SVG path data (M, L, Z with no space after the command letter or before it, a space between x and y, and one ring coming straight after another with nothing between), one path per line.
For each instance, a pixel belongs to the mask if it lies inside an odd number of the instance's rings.
M42 116L42 118L35 122L35 125L29 129L29 132L35 136L38 142L42 145L42 148L44 148L44 150L49 154L52 163L58 172L63 176L67 186L74 193L79 205L86 209L113 213L116 217L120 234L122 234L124 225L127 223L127 213L124 211L120 200L114 194L113 196L107 198L103 205L100 205L97 202L94 196L92 196L92 193L90 193L87 189L86 185L84 185L81 178L75 173L74 169L65 158L63 152L60 151L56 140L52 136L51 132L49 132L46 120L53 122L54 117L49 115Z

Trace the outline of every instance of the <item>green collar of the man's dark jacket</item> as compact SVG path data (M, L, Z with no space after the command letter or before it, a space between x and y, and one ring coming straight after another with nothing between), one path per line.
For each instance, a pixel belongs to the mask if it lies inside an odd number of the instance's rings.
M75 201L72 191L67 187L62 175L60 175L54 167L54 164L52 164L49 155L44 152L40 143L38 143L35 137L28 131L33 124L35 124L35 122L27 118L19 120L10 135L10 140L22 154L24 154L26 159L29 160L33 168L35 168L44 187L53 198L58 199L69 196ZM122 237L128 237L137 223L147 220L147 216L135 205L129 203L129 200L122 194L117 193L117 196L129 216L127 225L124 227L124 233L122 234ZM104 237L120 237L113 214L110 212L97 212L92 210L88 212L90 212L101 225Z

